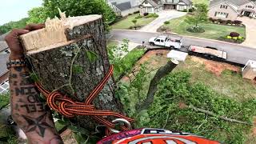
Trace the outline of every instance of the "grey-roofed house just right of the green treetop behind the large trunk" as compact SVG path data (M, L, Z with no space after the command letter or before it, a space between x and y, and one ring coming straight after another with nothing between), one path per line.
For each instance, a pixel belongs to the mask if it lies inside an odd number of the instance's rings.
M138 5L141 4L140 0L108 0L107 2L112 10L122 17L138 11Z

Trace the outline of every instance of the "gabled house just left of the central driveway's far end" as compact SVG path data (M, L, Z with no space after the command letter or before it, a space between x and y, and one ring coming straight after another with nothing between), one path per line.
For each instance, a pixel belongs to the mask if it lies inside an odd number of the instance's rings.
M140 14L144 15L145 13L157 13L161 11L163 5L160 2L158 3L153 0L144 0L142 4L139 5Z

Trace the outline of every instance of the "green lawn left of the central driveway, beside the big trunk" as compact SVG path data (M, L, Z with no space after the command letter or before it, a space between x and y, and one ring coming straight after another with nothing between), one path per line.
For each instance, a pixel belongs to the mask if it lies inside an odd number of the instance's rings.
M111 28L112 29L122 29L122 30L129 30L130 26L134 26L134 23L131 22L136 16L139 14L129 15L126 18L122 19L119 22L114 23ZM154 21L155 18L138 18L137 19L137 26L146 26L146 24Z

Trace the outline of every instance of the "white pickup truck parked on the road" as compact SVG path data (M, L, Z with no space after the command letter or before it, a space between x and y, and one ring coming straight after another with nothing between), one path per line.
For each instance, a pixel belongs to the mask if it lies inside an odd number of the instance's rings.
M171 49L180 49L182 47L182 42L180 39L170 39L164 35L150 38L150 45L154 46L166 46Z

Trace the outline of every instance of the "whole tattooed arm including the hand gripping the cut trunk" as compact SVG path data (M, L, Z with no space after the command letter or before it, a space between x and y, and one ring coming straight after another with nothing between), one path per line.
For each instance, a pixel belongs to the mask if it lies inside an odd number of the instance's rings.
M10 60L24 58L18 36L43 25L29 25L24 30L12 30L6 36L10 47ZM10 106L14 121L25 132L29 143L63 143L54 126L54 121L46 103L39 99L39 92L30 79L26 66L10 68Z

